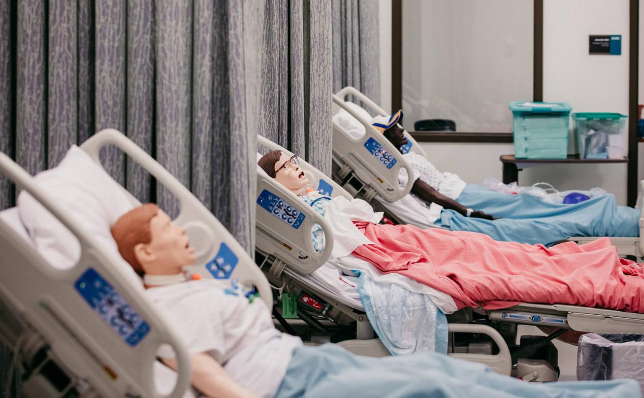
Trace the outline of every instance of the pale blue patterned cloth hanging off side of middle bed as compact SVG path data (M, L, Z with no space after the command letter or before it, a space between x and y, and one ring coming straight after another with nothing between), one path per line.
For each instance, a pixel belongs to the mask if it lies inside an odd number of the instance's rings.
M366 316L389 352L447 354L447 318L429 296L359 273L358 291Z

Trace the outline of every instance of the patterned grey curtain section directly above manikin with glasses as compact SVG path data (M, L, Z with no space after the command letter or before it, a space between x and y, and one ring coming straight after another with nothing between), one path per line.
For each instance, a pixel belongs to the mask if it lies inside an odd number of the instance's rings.
M263 29L259 132L328 175L330 0L267 1Z

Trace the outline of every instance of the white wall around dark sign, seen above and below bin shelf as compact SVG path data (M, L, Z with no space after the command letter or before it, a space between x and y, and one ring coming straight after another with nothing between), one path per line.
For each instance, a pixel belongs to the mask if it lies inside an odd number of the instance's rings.
M589 55L588 35L620 34L622 55ZM544 100L573 112L629 111L629 1L544 1ZM552 166L524 173L562 189L601 186L626 204L626 164Z

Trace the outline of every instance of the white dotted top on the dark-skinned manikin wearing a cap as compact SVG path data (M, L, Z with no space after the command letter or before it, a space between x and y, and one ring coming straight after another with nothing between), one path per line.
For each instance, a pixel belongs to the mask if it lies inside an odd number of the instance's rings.
M459 178L458 175L453 173L440 173L438 169L431 164L425 156L420 155L419 153L406 153L403 155L404 159L408 162L410 167L412 167L414 181L418 178L422 180L427 185L430 185L433 189L439 191L439 193L444 194L448 198L456 200L459 197L460 193L465 188L465 182ZM404 184L407 182L407 170L401 169L398 173L398 184L401 187L404 187ZM428 205L424 200L416 196L415 194L410 193L410 195L422 206L430 209L430 222L435 222L440 215L442 206L432 203Z

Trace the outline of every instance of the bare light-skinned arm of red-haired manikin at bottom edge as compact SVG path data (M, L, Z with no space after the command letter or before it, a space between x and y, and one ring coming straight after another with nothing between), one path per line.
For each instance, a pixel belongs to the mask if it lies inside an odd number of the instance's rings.
M176 359L164 358L163 362L176 370ZM191 384L204 393L208 397L234 397L234 398L250 398L254 397L252 393L244 390L236 384L223 370L222 365L219 365L208 354L194 354L190 357L190 366L192 368L193 376Z

